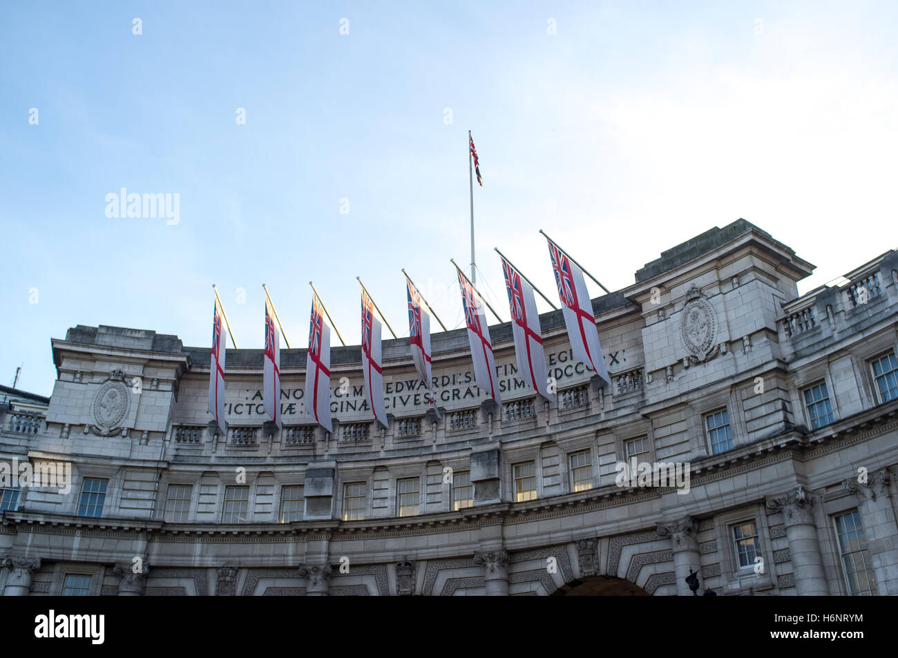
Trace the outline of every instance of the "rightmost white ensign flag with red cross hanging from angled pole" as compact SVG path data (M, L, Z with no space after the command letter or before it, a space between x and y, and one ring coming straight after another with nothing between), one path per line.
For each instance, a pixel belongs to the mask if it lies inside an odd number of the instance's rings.
M571 262L568 255L549 240L549 255L555 272L555 283L559 286L561 311L568 328L570 347L574 357L582 361L593 372L611 383L605 368L605 357L599 344L599 332L595 328L593 302L586 291L586 280L580 268Z

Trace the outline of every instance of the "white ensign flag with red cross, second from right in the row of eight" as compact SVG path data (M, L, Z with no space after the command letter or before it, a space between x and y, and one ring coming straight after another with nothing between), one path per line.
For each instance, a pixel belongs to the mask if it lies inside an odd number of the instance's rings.
M549 397L549 378L546 373L546 355L542 348L540 315L536 311L533 287L501 255L502 271L506 277L508 306L511 310L511 328L515 335L515 357L518 376L530 384L545 399Z

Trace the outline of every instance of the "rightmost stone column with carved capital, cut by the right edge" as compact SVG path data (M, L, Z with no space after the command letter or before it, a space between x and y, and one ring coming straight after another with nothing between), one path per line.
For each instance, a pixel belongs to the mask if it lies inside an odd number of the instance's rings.
M858 478L842 482L843 487L858 496L858 513L876 574L876 593L880 596L898 594L898 526L889 484L886 469L867 473L865 482Z

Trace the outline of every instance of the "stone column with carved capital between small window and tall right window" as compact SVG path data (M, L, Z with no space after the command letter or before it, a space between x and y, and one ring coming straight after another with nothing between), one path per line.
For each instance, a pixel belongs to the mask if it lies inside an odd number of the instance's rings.
M829 595L814 523L814 496L804 487L796 487L783 496L768 498L767 508L783 513L798 596Z

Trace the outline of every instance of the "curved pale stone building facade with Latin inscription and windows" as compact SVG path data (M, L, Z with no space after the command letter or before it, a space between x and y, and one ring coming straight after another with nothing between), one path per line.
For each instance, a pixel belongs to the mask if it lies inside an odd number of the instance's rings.
M694 575L699 593L898 594L898 252L799 297L813 268L744 220L665 251L593 300L610 385L541 315L550 403L515 378L510 325L490 328L502 408L454 330L433 336L436 409L408 339L384 341L375 426L359 347L335 347L332 433L304 415L304 349L282 351L280 431L261 351L228 351L225 436L208 347L69 329L46 413L0 409L0 464L72 475L3 485L0 588L691 595ZM621 479L630 455L688 463L688 490Z

